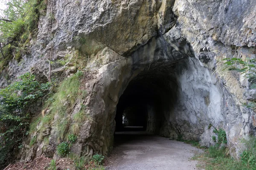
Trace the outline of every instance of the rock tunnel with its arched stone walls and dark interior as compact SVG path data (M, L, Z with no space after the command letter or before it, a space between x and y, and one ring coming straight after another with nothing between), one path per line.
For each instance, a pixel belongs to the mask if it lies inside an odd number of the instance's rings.
M99 70L99 90L90 105L102 125L95 124L103 144L100 152L107 154L116 139L130 139L118 136L128 132L200 141L209 124L223 119L218 79L189 42L173 35L152 38L125 57L104 51L115 55Z

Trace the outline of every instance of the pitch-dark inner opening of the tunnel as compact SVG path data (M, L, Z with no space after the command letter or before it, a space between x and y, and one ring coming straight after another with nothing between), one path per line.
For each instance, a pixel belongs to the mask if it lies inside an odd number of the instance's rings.
M177 101L177 83L171 70L172 65L165 65L143 71L131 80L116 106L116 132L160 134L166 113Z

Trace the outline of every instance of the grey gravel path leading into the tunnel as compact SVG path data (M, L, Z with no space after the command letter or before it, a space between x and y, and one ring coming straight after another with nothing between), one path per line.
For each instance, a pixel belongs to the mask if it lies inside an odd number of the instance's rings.
M146 131L127 131L115 135L106 170L195 170L191 157L198 152L203 150Z

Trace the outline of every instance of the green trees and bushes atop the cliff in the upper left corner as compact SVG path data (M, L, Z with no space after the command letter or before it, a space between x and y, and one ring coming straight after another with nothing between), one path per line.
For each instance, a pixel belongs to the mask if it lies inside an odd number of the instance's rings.
M15 57L18 61L21 54L26 54L26 46L38 29L40 14L44 14L47 0L4 0L7 8L1 17L11 20L0 20L0 71ZM15 54L13 57L12 55Z

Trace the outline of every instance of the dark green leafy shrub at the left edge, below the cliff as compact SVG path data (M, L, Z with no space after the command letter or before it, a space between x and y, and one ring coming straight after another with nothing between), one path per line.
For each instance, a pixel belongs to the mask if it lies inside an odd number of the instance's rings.
M0 90L0 164L11 161L11 152L18 149L23 137L28 134L32 105L43 98L50 83L40 84L35 76L26 73ZM33 143L33 141L32 141Z

